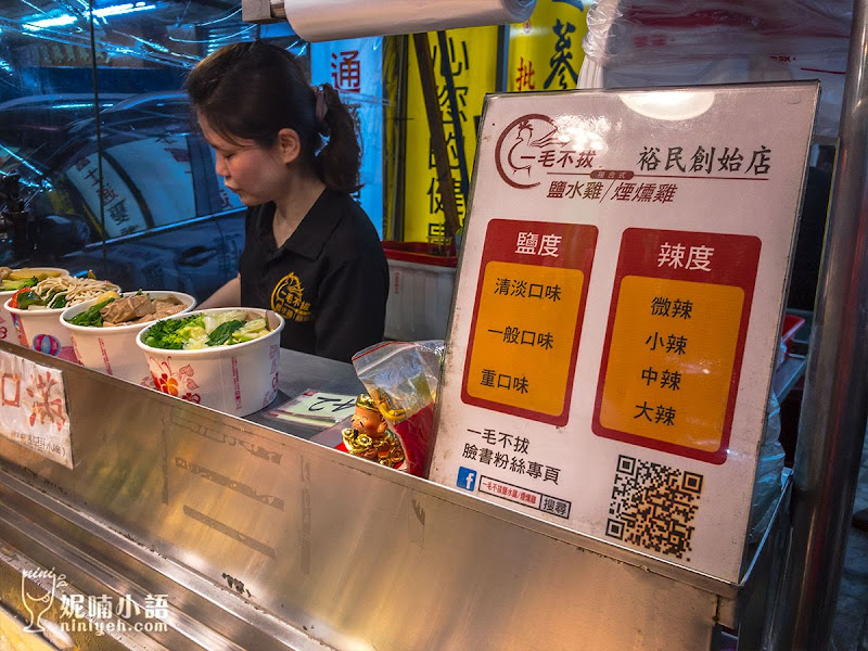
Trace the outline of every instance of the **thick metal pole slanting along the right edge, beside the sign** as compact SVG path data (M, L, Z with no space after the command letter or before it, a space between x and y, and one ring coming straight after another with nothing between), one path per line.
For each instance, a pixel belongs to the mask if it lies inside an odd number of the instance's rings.
M868 0L856 0L838 167L794 467L793 522L773 648L825 651L844 564L868 392Z

